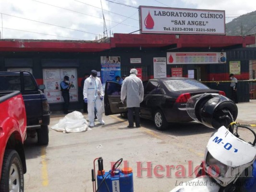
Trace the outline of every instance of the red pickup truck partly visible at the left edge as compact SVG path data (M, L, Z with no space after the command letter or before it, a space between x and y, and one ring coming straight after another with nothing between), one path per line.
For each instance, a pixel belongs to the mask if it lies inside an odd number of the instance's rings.
M0 192L24 192L26 112L19 91L0 95Z

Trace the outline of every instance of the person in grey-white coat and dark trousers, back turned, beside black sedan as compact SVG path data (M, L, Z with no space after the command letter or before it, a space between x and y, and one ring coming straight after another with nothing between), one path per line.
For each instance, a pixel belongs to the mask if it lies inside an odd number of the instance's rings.
M137 77L137 70L131 69L130 76L126 77L122 82L121 100L124 102L126 97L126 104L128 109L128 128L134 127L134 111L135 111L135 125L140 127L140 103L143 101L144 88L140 78Z

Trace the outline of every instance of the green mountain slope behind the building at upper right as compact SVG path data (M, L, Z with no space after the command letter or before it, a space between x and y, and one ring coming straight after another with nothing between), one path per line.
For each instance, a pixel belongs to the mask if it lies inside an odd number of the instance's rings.
M226 24L227 36L256 34L256 11L241 15Z

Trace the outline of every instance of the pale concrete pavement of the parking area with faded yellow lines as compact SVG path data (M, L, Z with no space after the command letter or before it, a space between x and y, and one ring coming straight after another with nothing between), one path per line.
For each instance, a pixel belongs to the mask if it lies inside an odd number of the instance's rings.
M256 120L253 106L256 102L238 104L238 120ZM61 118L52 117L50 126ZM92 192L91 169L99 156L106 171L111 161L121 157L128 161L134 173L134 192L169 192L175 184L191 180L189 164L194 169L204 159L207 141L215 131L196 122L171 124L160 132L148 120L134 129L128 129L127 120L119 115L104 120L105 125L97 122L86 132L50 129L50 142L44 147L29 138L25 142L25 192Z

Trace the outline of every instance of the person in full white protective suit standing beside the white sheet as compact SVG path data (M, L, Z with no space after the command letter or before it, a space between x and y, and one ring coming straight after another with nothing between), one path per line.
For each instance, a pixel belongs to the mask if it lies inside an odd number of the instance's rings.
M102 106L102 100L104 97L102 84L100 82L100 79L97 77L97 71L92 70L90 77L85 79L84 84L84 101L87 103L87 111L88 111L88 119L89 119L89 126L94 127L94 108L96 107L98 113L98 122L102 125L105 124L105 122L102 120L102 113L103 113L103 106Z

